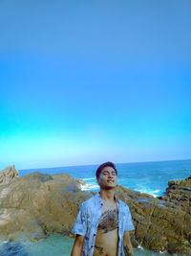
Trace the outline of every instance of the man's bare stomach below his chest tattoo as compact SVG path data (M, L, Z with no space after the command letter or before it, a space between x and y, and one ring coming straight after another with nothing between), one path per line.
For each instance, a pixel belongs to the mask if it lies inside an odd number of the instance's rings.
M117 256L118 229L108 233L97 230L93 256Z

